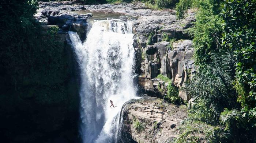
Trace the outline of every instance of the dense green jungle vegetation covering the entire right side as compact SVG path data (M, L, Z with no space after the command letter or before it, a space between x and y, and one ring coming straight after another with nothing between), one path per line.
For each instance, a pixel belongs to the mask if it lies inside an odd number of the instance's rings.
M188 8L198 70L182 89L195 105L177 142L256 142L256 1L180 0L177 18Z

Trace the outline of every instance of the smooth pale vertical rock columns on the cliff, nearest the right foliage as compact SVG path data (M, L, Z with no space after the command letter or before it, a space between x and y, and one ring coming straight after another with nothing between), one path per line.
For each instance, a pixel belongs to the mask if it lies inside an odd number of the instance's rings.
M191 40L178 40L173 43L173 50L169 51L161 60L161 74L172 79L176 87L191 78L195 73L193 56L193 46ZM185 92L180 91L179 96L184 100L190 100L191 97Z

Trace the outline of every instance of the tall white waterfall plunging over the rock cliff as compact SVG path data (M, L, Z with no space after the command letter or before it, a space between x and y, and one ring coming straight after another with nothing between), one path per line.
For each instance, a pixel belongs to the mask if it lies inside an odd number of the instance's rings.
M69 32L81 72L81 134L84 143L115 142L123 104L136 98L132 23L94 21L84 43ZM115 108L110 108L110 100Z

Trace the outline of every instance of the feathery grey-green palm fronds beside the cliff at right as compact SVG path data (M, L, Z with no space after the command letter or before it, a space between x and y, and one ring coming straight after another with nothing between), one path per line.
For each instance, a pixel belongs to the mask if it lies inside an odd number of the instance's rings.
M212 56L212 62L204 68L204 72L197 72L193 80L185 83L185 90L198 102L220 114L225 107L236 107L236 91L233 88L234 79L233 55L224 52Z

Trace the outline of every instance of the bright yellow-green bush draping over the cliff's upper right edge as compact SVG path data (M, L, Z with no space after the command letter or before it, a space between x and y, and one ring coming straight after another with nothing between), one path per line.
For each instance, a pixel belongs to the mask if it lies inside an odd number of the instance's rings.
M192 28L195 62L208 64L211 54L220 48L222 19L219 12L219 0L181 0L176 5L176 16L183 18L188 7L197 9L195 27Z

